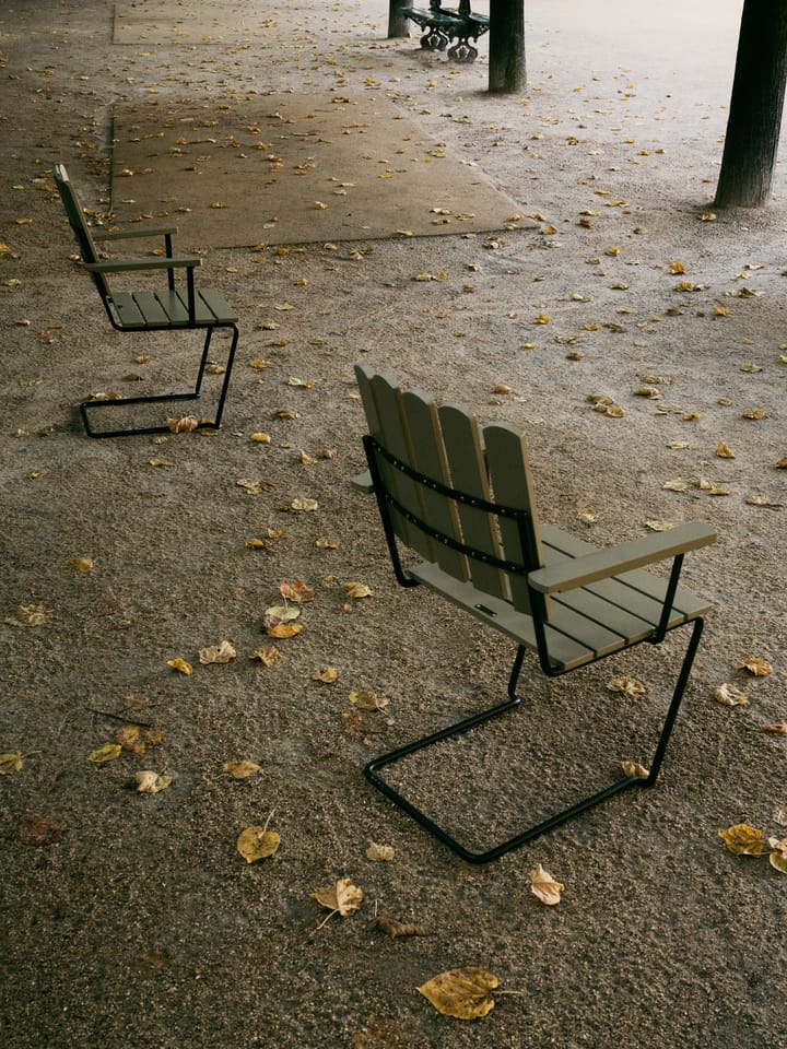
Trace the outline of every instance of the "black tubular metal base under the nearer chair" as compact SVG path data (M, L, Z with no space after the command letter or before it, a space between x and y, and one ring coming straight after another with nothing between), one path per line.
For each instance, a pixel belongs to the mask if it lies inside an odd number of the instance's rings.
M689 682L689 675L691 674L694 657L696 655L697 646L700 645L703 625L704 623L702 618L696 618L693 621L693 630L689 640L689 647L678 675L678 681L676 682L672 700L669 705L667 717L665 718L663 727L661 729L661 734L656 746L656 753L650 764L647 779L643 779L639 776L627 776L624 779L618 780L616 782L611 783L609 787L606 787L603 790L600 790L583 801L571 805L568 809L565 809L563 812L560 812L554 816L550 816L548 820L544 820L536 826L524 830L521 834L517 834L515 837L509 838L507 841L504 841L501 845L496 845L482 852L473 852L471 849L467 849L463 845L457 841L456 838L451 837L451 835L438 826L434 820L430 818L430 816L413 805L412 802L408 801L402 794L399 793L399 791L395 790L380 776L378 776L377 770L385 768L386 765L392 765L395 762L407 757L409 754L414 754L416 751L421 751L426 746L431 746L433 743L438 743L442 740L447 740L450 739L450 736L467 732L469 729L472 729L478 724L482 724L484 721L489 721L491 718L496 718L500 715L512 710L514 707L519 706L521 699L516 694L516 685L519 677L519 672L521 670L522 659L525 658L526 650L524 647L520 646L517 650L516 659L514 660L514 667L508 680L508 699L505 703L501 703L496 707L492 707L490 710L484 710L481 714L477 714L470 718L466 718L462 721L458 721L438 732L433 732L431 735L426 735L421 740L415 740L413 743L408 743L406 746L401 746L396 751L391 751L389 754L384 754L380 757L376 757L366 765L364 768L364 775L369 782L372 782L379 791L381 791L381 793L386 795L386 798L389 798L403 812L408 813L408 815L412 816L413 820L420 823L422 827L425 827L426 830L447 845L449 849L453 849L453 851L456 852L457 856L461 857L462 860L466 860L468 863L489 863L491 860L497 860L500 857L505 856L506 852L510 852L513 849L519 848L519 846L525 845L526 841L530 841L533 838L537 838L539 835L545 834L548 830L552 830L554 827L557 827L562 823L574 818L574 816L579 815L587 809L591 809L594 805L606 801L608 798L612 798L614 794L621 793L621 791L629 790L632 787L654 786L661 767L661 762L663 761L667 744L669 743L669 739L672 733L672 728L678 716L678 709L683 698L685 686Z

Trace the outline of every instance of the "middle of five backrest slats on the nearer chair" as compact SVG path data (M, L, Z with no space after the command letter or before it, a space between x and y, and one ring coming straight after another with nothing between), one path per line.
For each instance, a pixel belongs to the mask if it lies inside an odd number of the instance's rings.
M450 487L450 474L446 460L439 417L435 402L418 390L403 391L402 410L410 434L412 463L416 470L434 481ZM422 488L424 521L456 542L462 542L456 504L432 488ZM443 571L465 582L469 577L468 559L463 554L435 543L437 564Z

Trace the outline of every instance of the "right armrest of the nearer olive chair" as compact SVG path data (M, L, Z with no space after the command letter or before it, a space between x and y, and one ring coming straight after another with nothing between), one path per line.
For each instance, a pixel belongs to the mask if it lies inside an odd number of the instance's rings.
M698 550L716 542L716 532L705 521L691 521L667 532L633 539L620 546L595 551L582 557L571 557L548 568L538 568L528 576L528 582L540 593L563 593L586 587L598 579L620 576L632 568L676 557L690 550Z

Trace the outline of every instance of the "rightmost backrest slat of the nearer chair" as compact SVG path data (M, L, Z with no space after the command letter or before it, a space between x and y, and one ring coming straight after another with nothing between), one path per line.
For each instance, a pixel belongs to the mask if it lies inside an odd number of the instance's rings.
M483 443L495 502L527 510L530 515L526 550L522 550L517 522L512 518L500 518L504 556L535 571L542 567L543 558L525 437L508 423L493 423L483 427ZM530 593L525 577L512 576L509 584L514 606L518 612L530 613ZM549 599L545 614L549 615Z

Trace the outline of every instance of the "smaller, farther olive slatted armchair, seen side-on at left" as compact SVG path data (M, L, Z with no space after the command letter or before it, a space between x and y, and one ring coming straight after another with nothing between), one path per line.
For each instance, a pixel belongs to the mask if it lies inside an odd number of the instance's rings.
M226 366L223 370L224 379L215 414L212 420L199 419L197 421L200 427L218 429L221 425L237 346L237 316L227 305L224 296L215 288L198 288L195 286L193 271L198 266L201 266L202 260L198 256L173 256L172 238L177 233L176 226L140 226L139 228L118 231L92 229L87 225L84 210L64 166L56 164L52 174L71 229L77 238L84 268L93 279L113 328L124 332L189 331L193 329L205 332L197 379L191 390L184 393L83 401L80 404L80 414L85 433L89 437L121 437L131 434L166 433L173 429L173 426L177 427L179 421L173 420L168 423L156 423L153 426L96 431L91 425L90 416L93 412L115 411L127 405L199 401L202 393L202 380L209 364L211 338L218 328L223 328L232 332L232 342L226 356ZM99 255L98 244L144 237L163 237L163 255L145 259L110 260L103 259ZM128 292L113 290L109 285L109 278L119 273L157 273L162 270L166 270L165 288L156 287ZM186 271L185 285L183 282L179 285L176 284L176 270ZM108 419L109 416L104 417ZM184 426L184 428L189 427Z

